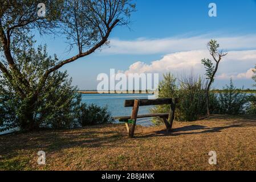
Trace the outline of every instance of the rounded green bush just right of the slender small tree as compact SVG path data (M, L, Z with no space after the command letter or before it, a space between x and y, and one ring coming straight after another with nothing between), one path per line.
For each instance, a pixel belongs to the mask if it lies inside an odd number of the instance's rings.
M246 93L236 89L232 79L230 79L230 84L218 94L217 100L218 114L245 114Z

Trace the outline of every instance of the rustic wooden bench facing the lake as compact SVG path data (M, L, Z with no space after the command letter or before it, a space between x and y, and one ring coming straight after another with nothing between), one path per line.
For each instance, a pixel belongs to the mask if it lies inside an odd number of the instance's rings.
M172 130L172 123L174 119L176 102L177 102L177 99L172 99L172 98L158 98L156 100L148 100L148 99L125 100L124 107L133 107L132 115L124 116L124 117L115 117L113 119L119 119L120 122L125 122L128 136L130 138L132 138L134 135L137 118L160 117L162 121L165 123L166 130L170 132ZM138 115L139 106L166 105L166 104L170 105L169 113Z

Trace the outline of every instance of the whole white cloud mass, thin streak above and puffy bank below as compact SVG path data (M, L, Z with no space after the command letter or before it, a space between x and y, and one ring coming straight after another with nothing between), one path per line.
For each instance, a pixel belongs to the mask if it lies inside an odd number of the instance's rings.
M192 37L173 37L164 39L119 40L112 39L110 48L104 48L103 54L152 55L163 54L159 60L146 63L137 61L129 66L128 73L166 73L180 75L190 72L204 75L205 68L201 59L209 58L206 43L216 39L221 49L227 50L228 55L221 61L217 79L251 79L251 68L256 63L256 34L241 36L212 36L201 35Z

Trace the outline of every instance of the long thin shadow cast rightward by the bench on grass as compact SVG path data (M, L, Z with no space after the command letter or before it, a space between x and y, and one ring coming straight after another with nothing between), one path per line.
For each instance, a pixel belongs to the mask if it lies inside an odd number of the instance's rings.
M216 133L221 132L221 130L229 129L232 127L242 127L243 125L230 125L230 126L222 126L222 127L206 127L201 125L191 125L179 127L177 129L173 129L172 133L168 133L166 130L155 131L153 134L139 136L136 138L147 138L147 137L164 137L164 136L178 136L178 135L189 135L189 134L202 134L202 133ZM196 131L203 130L203 131ZM182 131L192 131L192 132L182 132Z

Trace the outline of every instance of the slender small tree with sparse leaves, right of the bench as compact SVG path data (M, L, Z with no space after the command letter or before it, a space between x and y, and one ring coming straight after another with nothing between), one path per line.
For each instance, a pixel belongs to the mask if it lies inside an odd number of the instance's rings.
M220 47L220 44L218 44L216 40L210 40L210 42L207 44L207 47L209 49L210 55L212 56L214 62L210 59L202 59L201 61L206 69L206 73L205 73L206 79L209 80L206 86L206 109L207 109L207 115L210 115L209 90L214 82L214 77L216 75L216 72L218 71L220 61L224 56L227 55L227 52L218 50L218 48Z

